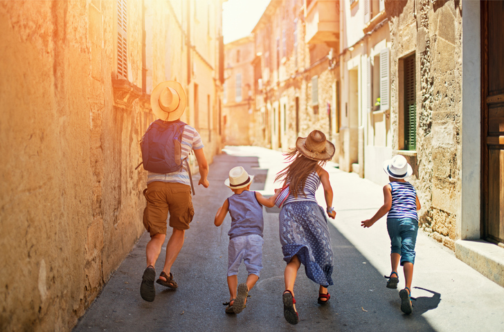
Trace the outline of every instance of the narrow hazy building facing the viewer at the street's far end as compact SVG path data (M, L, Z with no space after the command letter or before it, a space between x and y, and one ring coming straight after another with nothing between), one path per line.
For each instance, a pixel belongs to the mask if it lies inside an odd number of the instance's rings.
M224 145L251 145L253 135L253 37L237 39L224 46L224 91L222 95Z

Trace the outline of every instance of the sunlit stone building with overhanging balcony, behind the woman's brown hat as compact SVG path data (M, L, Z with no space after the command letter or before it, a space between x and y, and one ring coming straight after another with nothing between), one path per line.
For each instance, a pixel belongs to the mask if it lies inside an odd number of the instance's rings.
M253 28L254 144L287 151L319 129L339 148L338 4L271 1Z

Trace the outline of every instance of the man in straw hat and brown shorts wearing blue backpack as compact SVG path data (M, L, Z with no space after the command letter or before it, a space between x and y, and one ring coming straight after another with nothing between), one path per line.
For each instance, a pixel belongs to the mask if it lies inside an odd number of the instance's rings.
M147 189L143 194L147 204L143 211L143 225L150 233L145 248L147 268L143 272L140 294L152 302L156 296L154 265L165 241L167 218L170 213L172 235L166 246L163 270L158 284L177 288L171 273L172 265L183 246L184 234L189 229L195 210L192 208L192 179L187 162L193 150L199 166L199 183L208 187L208 163L199 133L179 119L186 109L186 93L174 81L160 83L152 91L152 111L159 118L150 124L142 139L143 167L147 173ZM192 188L194 193L194 188Z

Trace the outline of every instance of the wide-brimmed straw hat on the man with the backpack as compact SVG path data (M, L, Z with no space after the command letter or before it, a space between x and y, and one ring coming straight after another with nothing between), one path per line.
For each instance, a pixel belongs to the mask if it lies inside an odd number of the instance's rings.
M150 95L150 107L154 115L163 121L179 120L186 109L186 93L179 82L159 83Z

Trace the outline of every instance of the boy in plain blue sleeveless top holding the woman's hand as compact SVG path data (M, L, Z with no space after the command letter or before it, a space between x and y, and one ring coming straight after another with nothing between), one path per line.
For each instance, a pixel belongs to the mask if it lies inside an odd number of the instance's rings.
M229 212L231 215L231 229L228 232L228 288L229 302L226 313L241 313L245 308L246 297L259 279L262 269L262 205L268 208L275 204L275 195L266 199L258 192L251 192L250 185L253 176L249 176L241 166L229 171L229 178L224 181L234 194L228 197L222 207L215 214L215 225L222 225L222 221ZM246 283L238 285L238 268L244 260L247 273Z

